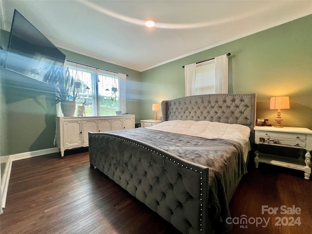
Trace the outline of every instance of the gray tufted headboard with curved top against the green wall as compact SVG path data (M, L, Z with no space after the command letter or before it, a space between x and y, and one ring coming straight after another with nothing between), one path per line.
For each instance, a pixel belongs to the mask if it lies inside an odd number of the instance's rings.
M161 102L163 121L208 120L246 125L251 129L251 142L254 142L255 110L256 94L209 94Z

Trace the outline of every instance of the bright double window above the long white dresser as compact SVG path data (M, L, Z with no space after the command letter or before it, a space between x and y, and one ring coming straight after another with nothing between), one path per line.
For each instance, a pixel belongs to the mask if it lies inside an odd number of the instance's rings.
M76 98L76 113L77 106L82 105L85 106L85 116L111 116L116 115L116 111L126 112L123 107L125 98L120 98L119 92L125 87L120 85L120 77L124 77L125 81L125 75L69 61L65 66L74 81L81 83Z

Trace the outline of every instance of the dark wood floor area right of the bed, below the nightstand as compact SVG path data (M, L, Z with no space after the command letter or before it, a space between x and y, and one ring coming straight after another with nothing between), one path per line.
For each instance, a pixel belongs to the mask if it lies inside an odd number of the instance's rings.
M253 164L253 163L251 163ZM247 228L234 224L231 234L293 234L311 233L312 205L309 197L312 194L312 181L304 179L302 172L269 164L254 165L248 174L243 176L229 204L232 218L246 215L247 218L265 218L269 220L267 227L247 224ZM281 214L281 206L299 207L300 215ZM276 215L267 212L262 214L262 206L277 207ZM300 226L275 226L276 217L290 221L290 217L299 218ZM284 223L286 224L286 222ZM265 226L265 225L264 225Z

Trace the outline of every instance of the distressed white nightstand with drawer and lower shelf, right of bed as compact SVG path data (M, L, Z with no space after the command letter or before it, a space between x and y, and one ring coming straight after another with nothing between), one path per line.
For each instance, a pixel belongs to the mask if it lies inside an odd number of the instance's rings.
M254 141L256 144L266 144L306 150L304 161L303 159L300 160L300 158L275 156L256 151L254 158L256 168L258 168L259 162L264 162L276 166L304 171L304 178L310 178L312 151L312 131L310 129L255 126L254 131Z

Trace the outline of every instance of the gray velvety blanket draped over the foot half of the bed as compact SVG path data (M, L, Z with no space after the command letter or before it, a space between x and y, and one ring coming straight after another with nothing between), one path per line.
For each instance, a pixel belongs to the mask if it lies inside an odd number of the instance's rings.
M206 139L182 134L136 128L111 131L161 148L185 160L209 167L209 219L215 230L227 232L231 225L227 195L247 173L241 145L233 140Z

